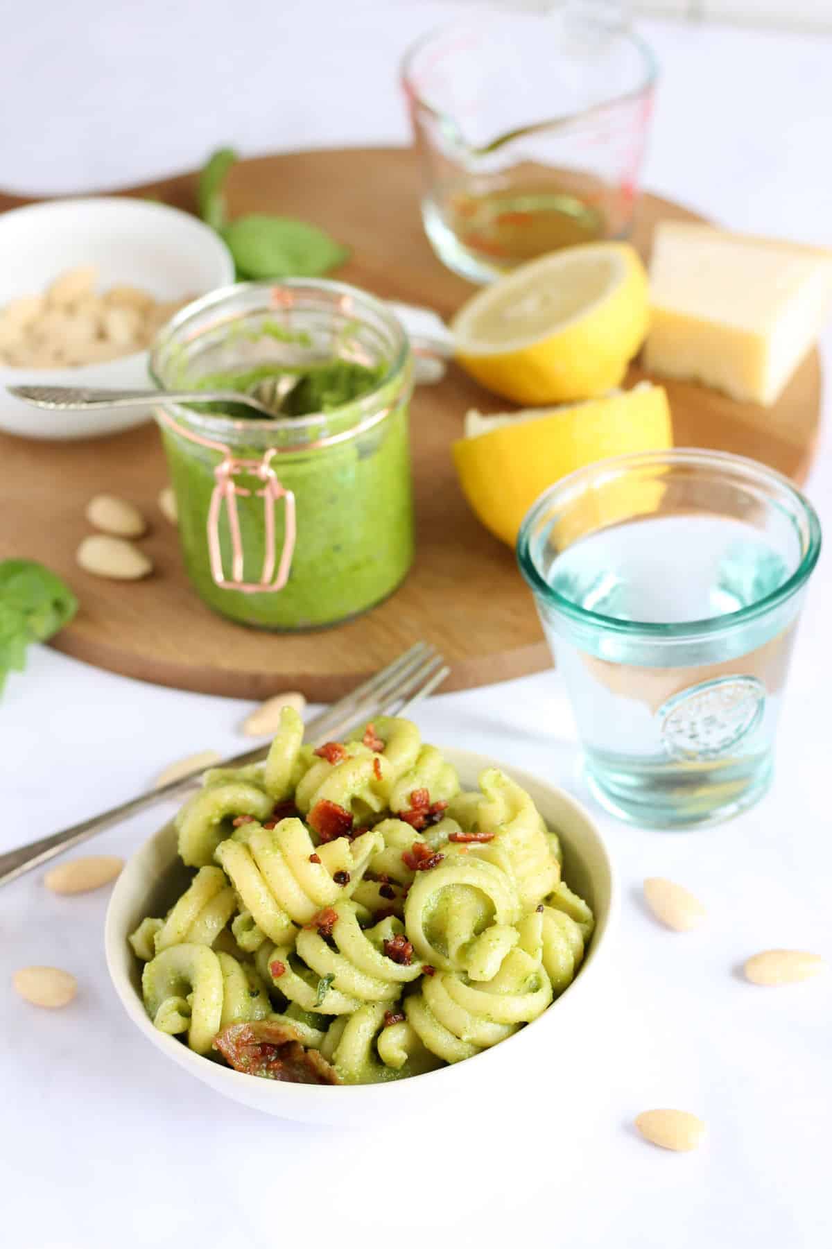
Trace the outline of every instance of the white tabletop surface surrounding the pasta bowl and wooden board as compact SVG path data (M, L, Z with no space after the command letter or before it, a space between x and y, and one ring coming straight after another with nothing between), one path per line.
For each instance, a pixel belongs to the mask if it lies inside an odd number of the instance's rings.
M9 10L4 184L117 185L192 166L229 140L245 152L407 141L396 56L450 5L249 0L234 19L232 7L76 0L47 20ZM832 39L642 29L665 69L646 185L735 227L828 242ZM827 368L831 348L827 335ZM825 440L808 487L825 523L831 487ZM768 947L832 957L828 567L822 558L812 585L770 797L701 833L600 816L623 894L616 959L586 1030L558 1038L533 1105L486 1087L475 1119L426 1105L415 1122L349 1133L246 1110L189 1080L127 1022L104 967L107 891L56 898L41 873L4 889L2 1244L828 1245L830 980L762 990L737 975ZM0 703L0 847L122 799L174 758L239 749L245 711L35 649ZM418 721L437 743L581 792L551 672L440 697ZM159 822L136 819L96 849L129 854ZM706 926L660 929L640 903L645 876L692 888ZM71 969L77 999L54 1013L21 1002L10 977L29 963ZM643 1144L632 1119L657 1105L702 1115L705 1148Z

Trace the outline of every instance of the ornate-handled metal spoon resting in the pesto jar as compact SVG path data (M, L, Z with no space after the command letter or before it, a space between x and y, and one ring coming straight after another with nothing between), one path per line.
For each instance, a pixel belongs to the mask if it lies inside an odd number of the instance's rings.
M96 407L152 407L154 403L241 403L250 407L257 416L280 416L282 405L290 392L297 386L297 376L281 373L275 378L259 382L254 393L241 391L135 391L101 390L89 386L9 386L7 391L15 398L22 398L35 407L49 407L52 411L70 411Z

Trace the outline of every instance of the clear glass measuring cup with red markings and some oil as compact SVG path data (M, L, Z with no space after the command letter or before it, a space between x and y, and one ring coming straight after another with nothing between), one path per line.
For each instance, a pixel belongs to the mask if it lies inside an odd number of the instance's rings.
M402 85L440 260L488 282L626 236L655 79L646 44L603 9L481 15L415 44Z

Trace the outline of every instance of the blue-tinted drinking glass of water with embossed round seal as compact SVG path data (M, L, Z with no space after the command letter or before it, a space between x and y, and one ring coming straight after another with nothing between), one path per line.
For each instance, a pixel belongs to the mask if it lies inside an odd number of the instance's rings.
M716 451L605 460L537 500L517 558L608 811L682 828L762 797L820 550L786 477Z

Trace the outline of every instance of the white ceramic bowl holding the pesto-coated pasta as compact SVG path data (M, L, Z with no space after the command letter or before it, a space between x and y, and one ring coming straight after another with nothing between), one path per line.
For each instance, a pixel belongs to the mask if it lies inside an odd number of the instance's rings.
M468 751L443 749L462 784L475 788L483 768L493 761ZM141 1000L141 967L127 944L127 934L147 914L161 914L181 892L185 869L176 856L176 832L166 824L127 862L116 881L105 924L105 952L110 977L121 1003L135 1025L162 1054L190 1075L210 1084L217 1093L300 1123L359 1124L370 1118L396 1122L399 1114L423 1109L427 1098L443 1105L448 1099L481 1099L495 1080L505 1082L507 1095L520 1095L523 1079L536 1080L540 1093L541 1063L546 1070L556 1062L558 1035L580 1027L580 1007L596 983L598 965L608 953L608 933L617 911L617 889L606 847L593 821L562 789L548 786L528 772L503 767L536 802L563 844L565 878L587 899L596 928L587 957L573 983L535 1023L513 1037L453 1067L386 1084L315 1085L282 1084L244 1075L195 1054L181 1040L154 1028ZM571 1020L571 1024L570 1024ZM538 1057L541 1060L535 1062ZM455 1105L456 1109L456 1105Z

